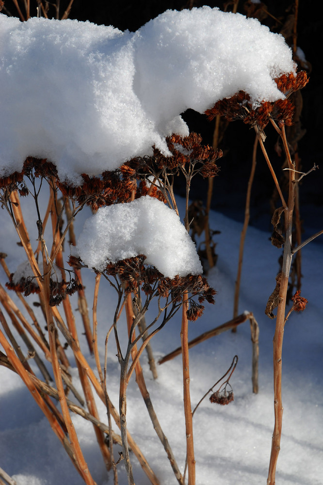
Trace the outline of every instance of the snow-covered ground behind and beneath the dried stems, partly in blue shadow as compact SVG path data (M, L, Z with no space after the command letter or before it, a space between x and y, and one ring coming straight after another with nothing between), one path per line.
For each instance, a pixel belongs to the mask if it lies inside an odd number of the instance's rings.
M220 183L220 179L217 180ZM85 213L79 214L77 233L81 231ZM212 212L211 227L221 231L216 236L219 255L210 271L210 284L217 290L215 306L207 306L205 314L190 323L190 339L232 318L234 281L237 269L241 225ZM11 223L1 213L1 250L8 253L7 264L12 270L23 258L23 251L7 244L7 236L16 242ZM190 351L192 405L229 367L234 355L238 366L231 383L234 402L227 406L210 404L206 399L194 415L196 483L199 485L258 485L266 482L274 424L272 339L275 321L264 314L269 294L275 286L280 250L271 245L269 234L249 228L245 244L242 291L239 311L252 311L260 327L259 393L252 393L251 341L248 321L230 331L207 340ZM323 474L323 304L322 304L322 244L312 242L302 251L302 295L309 303L303 313L292 313L285 327L283 347L283 433L276 483L279 485L320 485ZM91 307L94 274L83 271L86 294ZM1 283L6 278L1 274ZM114 293L102 281L99 295L99 342L103 356L104 339L111 324ZM32 298L35 300L35 298ZM76 302L75 302L76 306ZM37 310L37 309L36 309ZM39 315L40 317L40 315ZM41 318L41 317L40 317ZM80 335L81 323L78 322ZM120 326L124 321L120 321ZM155 358L180 345L180 321L175 318L152 340ZM87 351L85 337L82 348L88 361L95 362ZM113 338L109 343L108 387L114 405L118 402L118 363ZM183 420L181 357L158 366L154 381L142 358L147 387L152 403L181 468L185 461L185 427ZM77 370L71 370L74 383L81 391ZM128 390L128 426L162 485L175 484L169 466L147 415L139 390L131 381ZM101 419L106 422L105 409L97 401ZM0 368L0 456L1 468L13 476L18 485L81 485L58 439L47 420L34 403L20 379ZM97 447L92 425L79 417L74 423L89 468L98 485L108 479ZM116 430L116 427L114 426ZM118 447L115 447L116 452ZM136 483L148 480L132 458ZM120 485L126 484L123 464L119 465Z

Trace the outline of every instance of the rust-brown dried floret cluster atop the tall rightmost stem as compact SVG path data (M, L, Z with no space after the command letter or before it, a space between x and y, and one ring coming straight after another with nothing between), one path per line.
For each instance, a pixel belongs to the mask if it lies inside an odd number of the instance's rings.
M239 91L232 97L221 99L213 108L205 113L209 120L215 116L224 116L228 121L242 119L244 123L251 126L258 126L264 129L270 119L276 122L283 122L286 126L292 124L294 106L290 99L291 93L303 88L307 82L307 74L300 71L296 75L283 74L275 79L278 89L285 94L285 99L278 99L274 102L263 101L257 108L252 107L250 96L244 91Z

